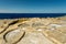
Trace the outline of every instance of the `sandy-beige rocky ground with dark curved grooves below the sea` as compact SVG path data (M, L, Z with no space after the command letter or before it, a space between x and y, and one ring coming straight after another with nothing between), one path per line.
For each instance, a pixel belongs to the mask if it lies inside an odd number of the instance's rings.
M66 16L0 19L0 44L66 44Z

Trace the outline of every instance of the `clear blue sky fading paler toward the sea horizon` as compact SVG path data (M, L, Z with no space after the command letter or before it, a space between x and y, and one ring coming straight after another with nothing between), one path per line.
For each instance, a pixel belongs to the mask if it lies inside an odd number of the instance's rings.
M0 13L66 13L66 0L0 0Z

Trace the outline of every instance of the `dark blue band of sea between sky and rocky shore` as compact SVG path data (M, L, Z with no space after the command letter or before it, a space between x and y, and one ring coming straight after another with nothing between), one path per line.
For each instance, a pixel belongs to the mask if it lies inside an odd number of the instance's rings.
M56 18L64 16L66 13L0 13L0 19L18 18Z

